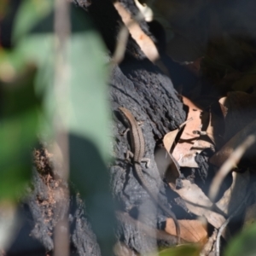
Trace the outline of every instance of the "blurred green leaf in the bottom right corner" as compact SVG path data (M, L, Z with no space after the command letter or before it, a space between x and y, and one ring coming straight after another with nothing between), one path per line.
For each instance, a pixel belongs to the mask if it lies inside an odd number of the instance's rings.
M256 255L256 223L252 224L241 234L230 241L225 250L225 256L254 256Z

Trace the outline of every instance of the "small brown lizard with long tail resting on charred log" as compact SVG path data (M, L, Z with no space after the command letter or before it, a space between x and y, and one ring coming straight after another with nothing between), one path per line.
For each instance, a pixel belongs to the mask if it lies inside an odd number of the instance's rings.
M176 232L177 232L177 243L180 241L180 227L177 222L177 218L172 210L168 209L166 206L160 203L157 198L157 195L154 194L152 189L150 189L150 185L148 184L147 180L143 176L143 169L141 166L142 161L148 161L143 159L145 154L145 141L143 137L143 131L141 127L137 124L137 120L134 118L132 113L126 108L119 108L119 110L125 115L125 118L129 122L130 134L131 134L131 150L127 151L126 159L129 159L129 156L133 157L133 163L135 166L135 171L137 173L137 177L140 179L140 182L143 185L143 188L147 190L148 194L154 200L154 203L158 205L166 214L171 217L176 225ZM147 166L147 165L146 165Z

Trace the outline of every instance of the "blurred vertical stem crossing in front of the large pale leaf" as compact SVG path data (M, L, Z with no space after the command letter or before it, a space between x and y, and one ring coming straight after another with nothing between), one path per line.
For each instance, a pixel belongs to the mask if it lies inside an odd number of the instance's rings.
M67 44L70 36L70 15L69 3L63 0L55 0L55 101L56 109L54 116L55 129L55 161L61 163L61 189L63 194L61 196L69 197L68 188L65 187L69 175L69 159L68 159L68 137L67 131L63 124L63 112L67 103L68 96L68 62L67 62ZM58 154L57 151L59 149ZM59 197L59 200L63 198ZM58 204L57 204L58 205ZM55 211L57 212L57 211ZM68 256L69 255L69 225L67 219L67 212L64 217L58 221L54 230L54 255Z

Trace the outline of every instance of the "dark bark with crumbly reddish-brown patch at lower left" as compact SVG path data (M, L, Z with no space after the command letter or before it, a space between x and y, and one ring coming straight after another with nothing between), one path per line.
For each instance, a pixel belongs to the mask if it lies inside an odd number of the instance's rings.
M55 224L67 212L71 255L101 255L84 211L84 201L73 190L69 199L59 196L64 193L63 186L67 187L67 183L63 184L58 178L51 160L44 147L34 151L32 189L28 189L26 202L20 205L22 226L7 255L51 255Z

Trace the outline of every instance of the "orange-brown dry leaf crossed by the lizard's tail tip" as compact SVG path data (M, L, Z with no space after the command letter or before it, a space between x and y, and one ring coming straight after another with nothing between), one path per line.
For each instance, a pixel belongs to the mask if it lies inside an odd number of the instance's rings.
M180 237L188 242L202 242L207 240L207 228L200 220L183 219L178 220L180 226ZM166 219L166 232L170 235L177 236L176 226L172 218Z

